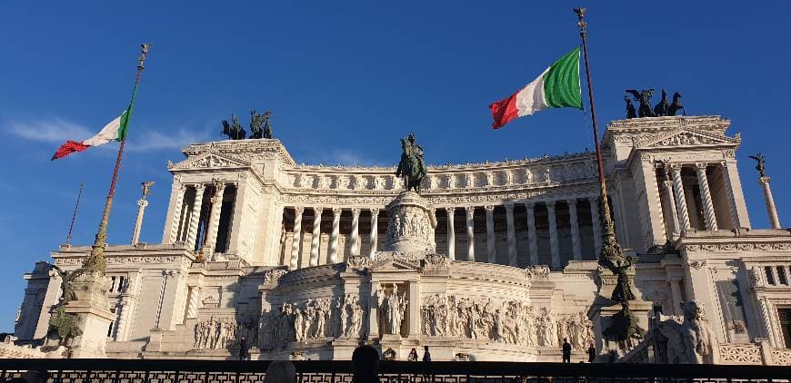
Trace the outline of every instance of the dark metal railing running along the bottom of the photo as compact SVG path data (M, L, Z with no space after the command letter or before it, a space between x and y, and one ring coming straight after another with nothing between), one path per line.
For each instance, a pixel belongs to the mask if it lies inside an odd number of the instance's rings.
M295 361L297 381L351 382L349 361ZM268 361L185 359L0 359L0 381L29 369L47 370L53 382L264 382ZM791 382L791 367L603 363L392 362L382 382Z

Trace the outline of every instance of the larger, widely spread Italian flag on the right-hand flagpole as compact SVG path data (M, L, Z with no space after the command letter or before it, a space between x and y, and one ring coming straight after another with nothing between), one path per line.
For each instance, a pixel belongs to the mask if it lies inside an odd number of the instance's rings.
M520 91L492 103L489 110L497 129L516 117L530 115L546 108L582 109L579 85L579 47L549 65L541 75Z

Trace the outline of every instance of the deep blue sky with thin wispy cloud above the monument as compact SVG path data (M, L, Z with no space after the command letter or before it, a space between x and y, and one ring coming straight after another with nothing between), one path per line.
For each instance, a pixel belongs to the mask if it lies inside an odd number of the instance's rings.
M550 110L492 131L486 106L579 44L589 9L600 129L624 116L626 88L684 94L689 114L741 132L737 158L753 226L766 211L753 162L764 152L781 221L791 220L786 20L791 2L303 1L6 2L0 13L0 331L13 330L22 274L65 241L93 241L116 144L50 162L125 108L138 45L149 54L110 221L130 240L140 182L156 185L142 241L158 242L167 160L219 139L231 113L275 111L296 162L392 164L414 131L429 162L481 162L592 148L589 116ZM647 4L647 3L646 3Z

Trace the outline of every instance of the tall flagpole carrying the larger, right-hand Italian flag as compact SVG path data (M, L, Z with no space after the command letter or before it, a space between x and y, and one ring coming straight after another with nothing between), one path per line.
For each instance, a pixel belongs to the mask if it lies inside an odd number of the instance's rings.
M582 37L582 50L585 56L585 74L587 79L587 96L590 100L590 115L591 115L591 123L593 124L593 138L594 143L596 145L596 167L599 171L599 189L601 193L601 208L600 212L604 219L604 232L602 233L602 249L599 253L599 259L605 260L612 260L613 258L617 258L621 256L621 247L618 245L616 239L616 231L615 231L615 224L610 217L610 206L608 204L607 199L607 184L605 180L605 165L602 161L602 149L601 145L599 144L599 133L598 128L596 126L596 107L594 106L594 98L593 98L593 84L590 80L590 62L588 61L587 57L587 41L586 41L586 22L585 22L585 14L587 8L574 8L574 12L576 13L577 17L579 18L579 22L576 24L579 26L579 35Z

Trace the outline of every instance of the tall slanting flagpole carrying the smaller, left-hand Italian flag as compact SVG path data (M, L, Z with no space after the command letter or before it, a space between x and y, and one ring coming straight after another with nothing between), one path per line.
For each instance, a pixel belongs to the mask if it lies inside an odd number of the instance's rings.
M137 95L137 86L140 84L140 76L143 74L143 64L145 63L145 54L151 48L151 44L141 44L140 57L137 59L137 76L135 77L135 88L132 90L132 102L129 103L129 110L126 111L122 119L128 119L132 114L132 105L135 103ZM127 120L128 122L128 120ZM123 128L123 123L122 123ZM128 129L128 125L127 125ZM107 240L107 221L110 218L110 209L113 207L113 198L115 197L115 182L118 180L118 171L121 168L121 159L124 156L124 146L126 143L126 133L122 133L121 145L118 147L118 156L115 158L115 170L113 170L113 181L110 182L110 191L107 193L107 201L105 201L105 211L102 213L102 221L99 222L99 231L96 233L96 239L91 249L91 254L85 259L83 269L105 274L105 245Z

